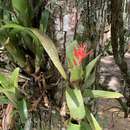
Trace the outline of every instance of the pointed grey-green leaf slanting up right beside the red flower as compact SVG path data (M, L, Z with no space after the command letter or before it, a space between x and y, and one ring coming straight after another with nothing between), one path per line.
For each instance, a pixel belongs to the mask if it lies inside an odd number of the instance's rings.
M85 80L87 80L93 70L93 68L95 67L97 61L99 60L100 55L97 56L94 60L92 60L91 62L89 62L89 64L86 66L86 76L85 76Z

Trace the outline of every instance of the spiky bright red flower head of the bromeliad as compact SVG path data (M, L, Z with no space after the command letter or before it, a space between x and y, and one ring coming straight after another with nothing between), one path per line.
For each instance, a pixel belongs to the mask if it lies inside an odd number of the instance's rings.
M86 53L87 46L85 44L80 44L77 48L74 48L73 54L76 59L74 59L74 64L81 64L83 59L88 57L88 55L92 54L92 50Z

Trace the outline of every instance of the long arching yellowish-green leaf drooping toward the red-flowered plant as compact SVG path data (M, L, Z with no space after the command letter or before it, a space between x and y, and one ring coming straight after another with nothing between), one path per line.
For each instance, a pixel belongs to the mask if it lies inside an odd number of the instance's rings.
M17 29L19 31L25 31L34 40L39 41L42 44L45 51L47 52L47 54L49 55L52 62L54 63L55 67L60 72L60 74L63 76L64 79L67 79L66 73L65 73L64 68L63 68L63 66L60 62L60 59L59 59L57 49L56 49L54 43L52 42L52 40L49 37L47 37L46 35L43 35L37 29L31 29L31 28L23 27L23 26L20 26L20 25L17 25L17 24L4 25L4 26L1 27L1 30L7 29L7 28L13 28L13 29Z

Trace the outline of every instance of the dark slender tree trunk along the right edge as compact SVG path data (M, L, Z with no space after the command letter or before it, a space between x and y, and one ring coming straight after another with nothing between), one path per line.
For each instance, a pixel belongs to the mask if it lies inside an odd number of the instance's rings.
M111 45L116 64L119 66L125 81L124 97L127 107L130 108L130 77L127 63L124 61L124 27L123 27L124 0L111 0ZM125 116L128 116L126 114Z

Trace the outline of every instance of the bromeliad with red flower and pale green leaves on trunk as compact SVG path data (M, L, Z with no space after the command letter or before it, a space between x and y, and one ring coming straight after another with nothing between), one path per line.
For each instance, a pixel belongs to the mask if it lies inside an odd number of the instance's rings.
M72 42L67 47L66 60L70 73L70 85L66 89L66 101L70 112L68 130L102 130L91 110L85 102L86 97L91 98L120 98L122 95L116 92L92 90L95 82L96 63L100 55L83 64L93 51L87 51L86 44ZM76 123L73 123L73 122Z

